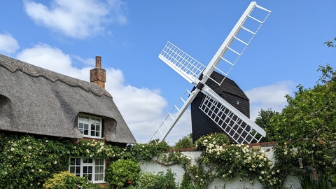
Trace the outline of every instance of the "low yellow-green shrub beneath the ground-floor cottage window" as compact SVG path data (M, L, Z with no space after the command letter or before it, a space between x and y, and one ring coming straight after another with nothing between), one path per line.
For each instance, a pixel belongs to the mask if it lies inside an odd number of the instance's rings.
M91 183L89 180L83 177L76 176L69 172L60 172L59 174L53 174L52 178L45 181L43 189L100 189L99 186Z

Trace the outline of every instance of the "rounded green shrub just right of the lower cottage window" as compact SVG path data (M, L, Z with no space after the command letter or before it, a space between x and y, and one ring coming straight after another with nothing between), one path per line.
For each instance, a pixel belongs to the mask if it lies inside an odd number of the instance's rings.
M136 182L139 176L140 165L132 160L117 160L111 162L106 169L105 181L116 188L125 187Z

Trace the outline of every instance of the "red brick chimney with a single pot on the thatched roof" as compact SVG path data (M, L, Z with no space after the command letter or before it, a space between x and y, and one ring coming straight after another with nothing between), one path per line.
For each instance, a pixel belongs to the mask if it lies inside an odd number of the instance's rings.
M90 70L90 82L105 88L106 70L102 69L102 57L96 57L96 67Z

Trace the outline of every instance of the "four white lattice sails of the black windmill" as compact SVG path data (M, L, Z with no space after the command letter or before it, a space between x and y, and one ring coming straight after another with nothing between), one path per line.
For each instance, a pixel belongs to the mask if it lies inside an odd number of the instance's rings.
M256 14L258 18L254 15L255 12L258 13ZM260 12L262 12L261 19L259 18ZM262 137L266 136L261 127L226 102L205 83L209 79L218 85L223 83L223 80L225 80L241 54L251 43L269 13L271 13L270 10L262 8L255 1L252 1L207 66L204 66L169 41L167 42L159 58L188 80L189 83L192 83L194 90L192 92L189 90L184 92L179 102L176 103L150 141L163 141L199 92L204 93L200 109L218 127L221 127L229 137L234 139L237 144L258 142ZM224 65L218 64L219 62L223 62ZM214 71L223 74L223 79L214 80L211 78L211 73Z

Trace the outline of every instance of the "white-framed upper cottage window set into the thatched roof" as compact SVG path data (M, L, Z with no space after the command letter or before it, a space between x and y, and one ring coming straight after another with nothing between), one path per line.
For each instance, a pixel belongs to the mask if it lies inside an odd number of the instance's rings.
M78 129L83 137L102 138L102 118L79 115Z

